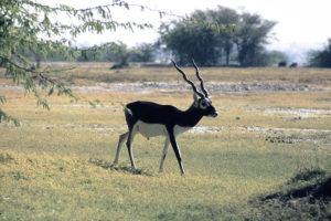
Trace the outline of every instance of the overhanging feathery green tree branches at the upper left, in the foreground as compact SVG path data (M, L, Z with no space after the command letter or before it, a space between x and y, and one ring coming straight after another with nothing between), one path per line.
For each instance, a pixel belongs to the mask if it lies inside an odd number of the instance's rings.
M65 4L50 7L32 0L1 0L0 64L6 69L7 76L10 76L17 84L23 84L28 92L35 95L38 105L49 108L47 99L41 95L39 88L47 91L49 95L57 92L57 95L65 94L72 99L78 99L61 81L47 76L52 72L63 70L35 69L21 50L26 49L32 53L40 53L43 59L52 54L73 59L77 53L77 50L72 46L73 40L81 33L102 33L105 30L116 31L118 28L128 30L150 28L148 23L118 22L113 19L110 9L126 10L130 7L145 8L121 0L113 0L106 6L85 9L75 9ZM161 15L162 13L160 12ZM58 17L67 17L70 22L58 20ZM71 22L73 20L75 20L74 23ZM107 45L109 43L94 49ZM6 97L0 95L0 103L4 102ZM2 120L19 124L0 108L0 122Z

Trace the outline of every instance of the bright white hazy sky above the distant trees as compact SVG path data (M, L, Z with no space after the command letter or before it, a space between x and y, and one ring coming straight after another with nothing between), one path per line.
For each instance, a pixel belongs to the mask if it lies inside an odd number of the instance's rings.
M38 0L49 4L66 3L84 8L111 3L113 0ZM331 0L127 0L129 3L142 4L152 9L171 11L174 14L190 14L194 10L215 9L216 6L228 7L238 11L258 13L264 19L277 21L274 28L275 38L269 49L286 50L289 48L321 46L331 38ZM120 40L128 45L141 42L153 42L158 38L157 27L161 21L156 12L146 10L114 10L114 19L151 22L156 29L134 33L118 31L102 35L87 34L77 39L77 44L98 44Z

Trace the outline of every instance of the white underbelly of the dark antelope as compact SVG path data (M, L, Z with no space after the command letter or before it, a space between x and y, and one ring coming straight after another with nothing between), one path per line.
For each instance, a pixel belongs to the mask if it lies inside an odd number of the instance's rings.
M184 131L188 131L192 127L181 127L175 125L173 128L174 136L178 136ZM138 120L135 125L134 130L140 133L146 138L157 137L157 136L168 136L168 131L164 125L161 124L147 124Z

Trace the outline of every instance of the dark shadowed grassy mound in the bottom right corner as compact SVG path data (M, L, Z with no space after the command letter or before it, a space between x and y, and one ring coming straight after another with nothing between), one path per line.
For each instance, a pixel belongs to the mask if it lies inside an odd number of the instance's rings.
M252 201L255 220L330 220L330 172L303 169L279 189Z

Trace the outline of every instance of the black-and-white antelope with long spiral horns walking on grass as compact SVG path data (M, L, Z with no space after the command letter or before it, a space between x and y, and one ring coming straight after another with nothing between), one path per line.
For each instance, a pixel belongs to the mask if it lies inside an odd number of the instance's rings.
M121 146L127 140L127 148L131 166L136 169L132 154L132 141L137 133L146 138L156 136L166 136L163 154L159 171L163 170L163 162L168 152L169 144L171 144L175 154L181 175L184 175L182 166L181 151L177 144L177 136L193 128L203 116L216 117L218 114L212 105L207 91L204 88L203 80L200 76L199 67L193 61L196 71L196 77L200 81L201 92L199 92L193 82L191 82L185 73L172 61L174 67L182 74L184 81L189 83L194 92L193 104L186 110L180 110L171 105L160 105L152 102L134 102L125 106L125 117L129 131L119 136L117 152L114 164L118 164Z

